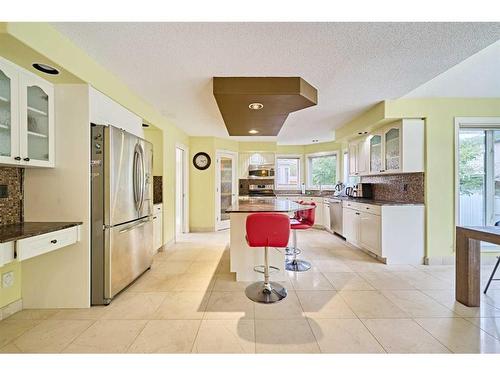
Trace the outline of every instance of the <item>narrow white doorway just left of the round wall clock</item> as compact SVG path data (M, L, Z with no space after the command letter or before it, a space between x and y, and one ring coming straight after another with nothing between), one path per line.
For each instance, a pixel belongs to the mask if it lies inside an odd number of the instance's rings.
M175 148L175 238L188 232L187 148Z

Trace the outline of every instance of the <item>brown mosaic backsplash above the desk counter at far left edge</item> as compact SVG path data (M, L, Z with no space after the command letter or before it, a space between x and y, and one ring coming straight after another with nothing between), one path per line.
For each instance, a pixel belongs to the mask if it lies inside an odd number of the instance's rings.
M22 168L0 167L0 185L7 188L7 197L0 198L0 225L23 221Z

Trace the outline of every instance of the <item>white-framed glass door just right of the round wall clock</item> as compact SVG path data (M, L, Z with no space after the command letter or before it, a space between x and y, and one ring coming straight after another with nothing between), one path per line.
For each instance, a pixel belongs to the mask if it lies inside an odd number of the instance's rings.
M228 209L238 196L237 154L229 151L216 152L215 178L215 229L227 229L230 226Z

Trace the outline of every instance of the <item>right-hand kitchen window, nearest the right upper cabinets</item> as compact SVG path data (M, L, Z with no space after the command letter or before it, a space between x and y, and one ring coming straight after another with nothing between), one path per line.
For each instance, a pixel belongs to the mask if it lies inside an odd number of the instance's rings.
M333 189L337 183L337 153L307 156L307 187Z

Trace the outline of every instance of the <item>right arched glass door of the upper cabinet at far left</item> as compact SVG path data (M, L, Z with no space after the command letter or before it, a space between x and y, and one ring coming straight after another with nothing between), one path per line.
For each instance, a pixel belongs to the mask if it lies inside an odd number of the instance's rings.
M54 166L53 87L36 77L22 77L21 157L27 166Z

